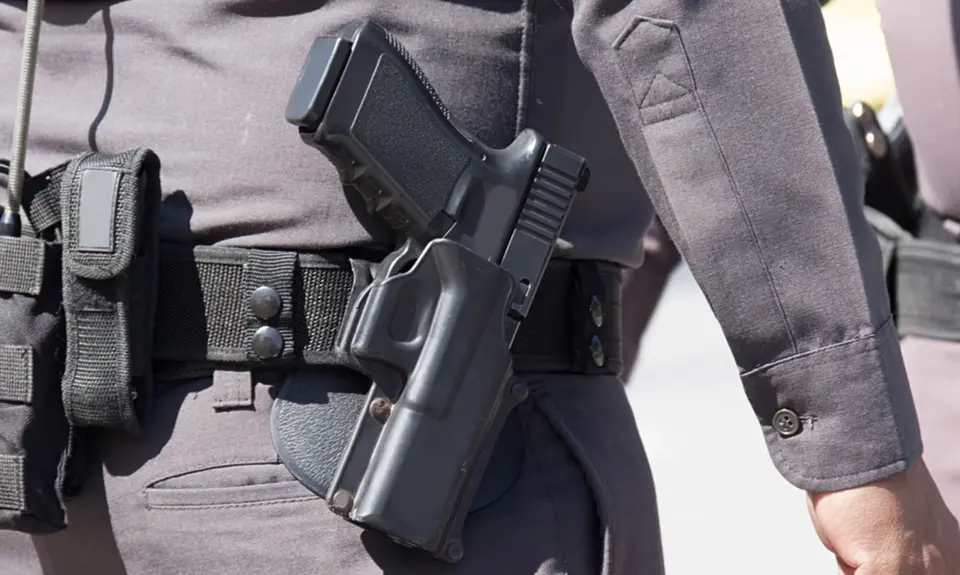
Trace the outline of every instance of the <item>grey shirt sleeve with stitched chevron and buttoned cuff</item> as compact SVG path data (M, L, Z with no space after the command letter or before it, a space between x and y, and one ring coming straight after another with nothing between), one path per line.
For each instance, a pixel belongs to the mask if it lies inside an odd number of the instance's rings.
M777 469L835 491L908 468L919 427L818 3L572 2Z

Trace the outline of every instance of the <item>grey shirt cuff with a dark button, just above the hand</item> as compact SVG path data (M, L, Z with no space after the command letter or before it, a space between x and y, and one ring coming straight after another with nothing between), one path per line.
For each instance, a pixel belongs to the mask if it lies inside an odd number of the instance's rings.
M774 465L805 491L879 481L923 452L892 320L870 336L765 365L742 380Z

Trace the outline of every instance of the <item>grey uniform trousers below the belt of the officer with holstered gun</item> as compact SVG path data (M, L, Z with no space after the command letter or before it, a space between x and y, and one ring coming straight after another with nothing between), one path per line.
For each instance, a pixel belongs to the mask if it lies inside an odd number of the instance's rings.
M457 566L362 532L294 480L270 439L275 386L251 388L250 408L217 411L227 394L245 398L206 378L165 388L145 438L105 433L70 528L0 535L2 573L661 573L652 478L622 384L538 379L521 408L522 475L469 519ZM606 538L598 509L618 524ZM605 546L634 559L603 569Z

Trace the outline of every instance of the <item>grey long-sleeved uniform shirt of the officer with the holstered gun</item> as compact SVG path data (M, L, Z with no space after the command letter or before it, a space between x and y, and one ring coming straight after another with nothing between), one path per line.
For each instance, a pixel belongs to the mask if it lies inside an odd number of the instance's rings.
M0 4L3 141L22 6ZM653 200L789 481L841 489L919 456L814 0L50 1L28 169L146 146L163 162L168 239L388 242L283 120L312 39L359 18L393 32L485 142L530 126L587 157L596 177L563 256L638 265ZM777 433L782 408L799 434Z

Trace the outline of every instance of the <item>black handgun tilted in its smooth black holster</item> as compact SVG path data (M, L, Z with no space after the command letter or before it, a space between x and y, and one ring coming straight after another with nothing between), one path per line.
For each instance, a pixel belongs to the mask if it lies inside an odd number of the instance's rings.
M583 158L524 130L477 141L407 51L369 22L315 40L287 120L405 243L353 302L338 350L372 381L329 492L335 512L449 562L506 416L510 346Z

